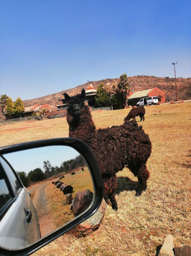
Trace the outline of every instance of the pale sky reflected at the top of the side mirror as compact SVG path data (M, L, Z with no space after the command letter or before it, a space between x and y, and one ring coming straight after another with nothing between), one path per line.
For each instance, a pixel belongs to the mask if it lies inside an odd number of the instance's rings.
M48 160L53 167L60 167L62 162L78 155L80 155L78 151L69 146L46 146L5 154L4 157L16 172L29 173L36 168L44 172L44 161Z

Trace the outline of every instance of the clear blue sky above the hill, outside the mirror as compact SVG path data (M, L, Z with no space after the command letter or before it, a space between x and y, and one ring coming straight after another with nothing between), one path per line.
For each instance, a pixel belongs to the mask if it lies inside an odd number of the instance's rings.
M190 0L0 0L0 95L87 80L191 77Z

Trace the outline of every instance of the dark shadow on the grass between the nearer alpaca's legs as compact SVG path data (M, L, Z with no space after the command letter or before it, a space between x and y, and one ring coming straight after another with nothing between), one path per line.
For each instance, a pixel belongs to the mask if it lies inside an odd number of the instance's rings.
M118 177L118 187L116 189L116 194L123 191L136 191L138 187L138 181L133 181L128 177Z

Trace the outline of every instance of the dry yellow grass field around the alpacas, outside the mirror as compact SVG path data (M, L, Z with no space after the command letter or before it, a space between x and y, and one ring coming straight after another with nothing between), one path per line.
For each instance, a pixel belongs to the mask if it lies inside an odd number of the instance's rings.
M120 125L129 110L92 117L97 128ZM135 197L137 179L124 168L118 173L118 211L108 205L98 231L85 238L65 234L34 256L155 256L169 233L174 246L191 245L191 102L146 107L138 124L152 141L147 190ZM67 136L66 118L0 126L0 146Z

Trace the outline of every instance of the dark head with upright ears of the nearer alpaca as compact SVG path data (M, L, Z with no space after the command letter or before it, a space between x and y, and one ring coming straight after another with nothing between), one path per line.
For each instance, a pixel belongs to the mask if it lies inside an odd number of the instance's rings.
M77 125L80 119L80 114L85 105L85 90L82 89L81 94L75 96L69 96L64 93L65 100L67 102L67 122L68 124ZM74 127L73 127L74 128Z

